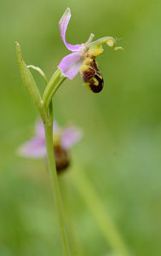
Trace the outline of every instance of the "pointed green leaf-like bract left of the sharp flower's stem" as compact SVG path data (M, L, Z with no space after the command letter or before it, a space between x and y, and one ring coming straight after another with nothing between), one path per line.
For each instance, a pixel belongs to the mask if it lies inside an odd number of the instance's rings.
M17 42L16 45L16 52L17 52L17 61L20 67L20 75L23 81L23 84L26 87L26 90L29 96L32 99L32 102L37 106L39 110L42 109L43 100L40 96L39 90L37 89L37 84L32 77L32 73L29 71L28 67L26 66L25 61L22 59L22 55L20 52L20 44Z

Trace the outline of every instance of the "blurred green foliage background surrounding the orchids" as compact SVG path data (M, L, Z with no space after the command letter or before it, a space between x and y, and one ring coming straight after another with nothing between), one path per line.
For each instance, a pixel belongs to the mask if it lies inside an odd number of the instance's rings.
M83 128L72 159L93 183L127 246L138 256L161 255L161 2L148 0L8 0L0 7L0 255L61 255L46 162L20 159L33 135L37 109L16 63L18 41L27 64L48 77L69 52L58 22L72 10L66 39L83 43L113 36L123 51L104 46L97 58L105 87L98 95L80 75L60 87L55 119ZM34 73L40 90L42 79ZM70 172L70 171L69 171ZM83 256L111 252L70 176L64 179L71 222ZM66 193L67 196L67 193ZM68 196L67 196L68 197ZM110 254L111 255L111 254Z

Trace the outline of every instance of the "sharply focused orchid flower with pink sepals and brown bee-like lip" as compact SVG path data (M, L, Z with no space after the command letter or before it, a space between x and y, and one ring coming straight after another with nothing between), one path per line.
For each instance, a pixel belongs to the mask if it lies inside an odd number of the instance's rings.
M72 54L66 55L60 61L59 68L61 72L69 79L74 79L78 72L81 73L83 82L89 86L93 92L100 92L103 88L103 77L95 62L95 56L100 55L103 51L102 44L106 43L113 49L122 49L115 47L116 41L112 37L100 38L91 43L94 34L90 34L89 40L85 44L68 44L66 43L66 29L71 18L71 11L66 9L62 15L59 27L60 37L66 48L72 51Z

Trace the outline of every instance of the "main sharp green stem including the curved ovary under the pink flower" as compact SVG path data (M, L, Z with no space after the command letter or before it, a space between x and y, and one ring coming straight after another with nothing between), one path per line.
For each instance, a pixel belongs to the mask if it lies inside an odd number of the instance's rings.
M39 72L39 70L38 70ZM52 78L49 80L44 93L43 93L43 109L48 114L49 122L44 122L45 137L46 137L46 147L47 147L47 156L48 156L48 165L49 165L49 176L51 180L53 195L55 199L55 209L57 212L57 217L60 227L60 236L61 242L66 256L70 256L66 228L63 219L63 212L61 207L61 197L60 197L60 186L58 182L56 166L55 166L55 153L53 146L53 105L52 98L55 95L56 90L59 88L60 84L66 78L61 74L60 69L58 68Z

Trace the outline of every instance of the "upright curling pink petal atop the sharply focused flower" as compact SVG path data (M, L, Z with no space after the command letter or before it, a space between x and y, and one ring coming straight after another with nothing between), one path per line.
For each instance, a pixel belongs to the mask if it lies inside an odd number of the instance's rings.
M63 41L63 43L66 45L66 48L72 51L79 51L81 49L81 44L68 44L66 43L66 28L69 23L69 20L71 19L71 10L69 8L66 9L64 15L62 15L59 27L60 27L60 37Z

